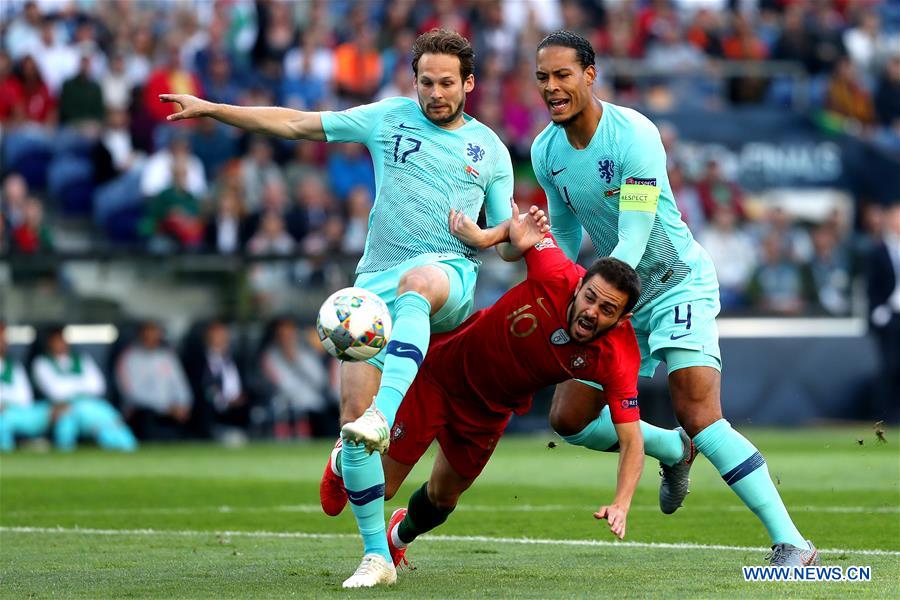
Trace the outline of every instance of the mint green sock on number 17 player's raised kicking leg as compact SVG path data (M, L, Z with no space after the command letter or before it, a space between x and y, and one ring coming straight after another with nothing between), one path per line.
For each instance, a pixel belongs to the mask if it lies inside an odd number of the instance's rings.
M394 329L387 345L381 387L375 396L375 406L390 426L425 360L430 338L431 303L418 292L401 294L394 303Z

